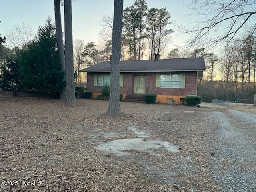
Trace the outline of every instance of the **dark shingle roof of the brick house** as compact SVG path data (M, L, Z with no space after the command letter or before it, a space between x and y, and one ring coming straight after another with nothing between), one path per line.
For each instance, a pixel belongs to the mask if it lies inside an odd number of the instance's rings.
M121 72L205 70L204 58L120 61ZM80 72L110 72L110 62L102 62Z

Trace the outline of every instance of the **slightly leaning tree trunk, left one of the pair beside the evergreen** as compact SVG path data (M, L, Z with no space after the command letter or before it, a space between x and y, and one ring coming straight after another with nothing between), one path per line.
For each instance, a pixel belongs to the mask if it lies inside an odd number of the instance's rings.
M57 52L60 58L61 70L65 73L65 56L64 56L61 16L60 16L60 0L54 0L54 12L55 12L56 39L57 39L57 47L58 47ZM65 81L65 76L63 80ZM64 100L65 98L65 89L66 89L66 86L60 92L61 100Z

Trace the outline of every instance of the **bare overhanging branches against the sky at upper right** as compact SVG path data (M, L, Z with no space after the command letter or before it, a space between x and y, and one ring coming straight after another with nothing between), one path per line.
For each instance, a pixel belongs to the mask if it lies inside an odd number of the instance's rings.
M189 7L204 19L194 29L183 31L192 34L191 44L205 48L227 45L248 26L255 33L256 24L250 22L256 19L255 6L255 0L193 0Z

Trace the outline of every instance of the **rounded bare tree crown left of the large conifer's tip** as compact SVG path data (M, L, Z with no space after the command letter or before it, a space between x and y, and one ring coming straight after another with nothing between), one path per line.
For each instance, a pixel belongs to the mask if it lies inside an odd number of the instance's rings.
M20 47L26 49L28 42L33 40L35 33L32 30L32 26L26 24L15 25L6 32L7 43L11 47Z

